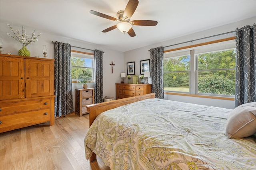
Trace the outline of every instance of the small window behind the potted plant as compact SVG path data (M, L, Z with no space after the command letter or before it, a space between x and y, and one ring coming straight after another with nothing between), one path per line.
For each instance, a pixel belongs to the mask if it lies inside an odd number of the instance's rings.
M78 78L78 75L86 70L92 73L92 78L94 78L94 56L71 52L71 77L73 80Z

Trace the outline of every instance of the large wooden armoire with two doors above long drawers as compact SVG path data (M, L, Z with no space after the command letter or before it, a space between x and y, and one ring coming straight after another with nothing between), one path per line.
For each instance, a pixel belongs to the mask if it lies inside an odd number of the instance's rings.
M0 54L0 133L54 125L54 59Z

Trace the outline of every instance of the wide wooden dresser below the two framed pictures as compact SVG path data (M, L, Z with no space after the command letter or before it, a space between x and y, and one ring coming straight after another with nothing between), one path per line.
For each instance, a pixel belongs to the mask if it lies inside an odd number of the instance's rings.
M151 84L116 83L116 99L151 93Z

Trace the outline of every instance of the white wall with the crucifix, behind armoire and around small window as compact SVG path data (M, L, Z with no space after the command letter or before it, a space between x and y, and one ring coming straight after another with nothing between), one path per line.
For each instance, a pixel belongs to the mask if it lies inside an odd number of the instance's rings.
M12 25L14 30L21 29L21 25ZM38 37L38 41L36 41L34 44L29 44L27 46L27 49L30 51L30 56L39 56L43 57L42 50L43 45L46 45L47 51L48 51L48 58L54 59L54 44L52 44L52 41L60 41L62 43L69 43L72 46L76 47L82 47L86 49L98 49L104 51L103 54L103 96L113 96L116 97L116 88L115 83L118 83L121 81L120 74L123 72L123 63L124 63L124 55L120 51L114 51L110 49L106 49L101 47L100 45L84 42L84 41L78 41L76 39L69 39L66 37L58 37L55 35L51 35L50 33L41 31L40 28L26 28L26 33L30 36L30 33L32 33L33 29L36 29L35 33L38 35L39 33L42 33L40 37ZM9 37L6 35L6 33L11 33L10 28L7 26L7 23L0 23L0 37L3 41L3 54L11 53L12 55L18 55L19 49L22 48L22 45L12 39L12 37ZM88 53L94 53L93 51L86 51L83 49L73 48L77 51L85 51ZM113 74L111 73L111 66L109 65L111 62L115 64L113 68ZM88 84L89 88L94 88L93 83ZM73 101L74 100L74 92L76 88L82 88L82 84L80 83L73 83L72 84L72 92L73 92Z

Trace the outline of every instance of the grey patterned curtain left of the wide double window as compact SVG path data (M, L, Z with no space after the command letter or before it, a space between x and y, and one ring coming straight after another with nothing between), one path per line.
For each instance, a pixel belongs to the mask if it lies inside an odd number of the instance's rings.
M164 47L150 49L150 75L152 78L152 93L155 98L164 99L163 77Z

